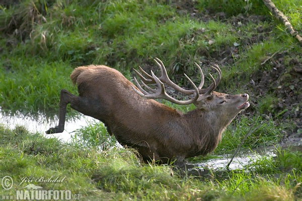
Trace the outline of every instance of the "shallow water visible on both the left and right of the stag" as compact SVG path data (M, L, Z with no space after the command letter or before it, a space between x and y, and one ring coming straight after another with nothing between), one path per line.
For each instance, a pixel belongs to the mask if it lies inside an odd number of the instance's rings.
M69 142L71 140L71 136L75 133L74 131L80 129L89 124L93 124L94 122L99 122L98 120L84 116L80 114L78 118L66 118L65 121L65 130L63 133L56 133L47 135L45 131L47 131L51 127L55 127L58 124L58 118L46 118L44 114L37 115L35 117L27 116L22 113L15 113L13 116L5 115L0 110L0 124L7 125L9 128L14 129L16 126L25 126L30 132L39 132L43 133L47 138L58 138L63 142ZM291 147L291 150L294 151L302 151L302 141L297 138L290 139L288 142L282 143L283 148ZM252 163L252 161L256 161L257 159L263 157L274 157L276 154L274 153L274 147L270 147L267 149L258 149L258 150L248 150L242 151L237 154L237 156L233 159L233 162L230 165L230 169L242 169L245 165ZM232 154L224 154L217 158L212 158L202 163L189 164L192 167L200 167L202 169L221 169L225 168L226 165L231 160Z

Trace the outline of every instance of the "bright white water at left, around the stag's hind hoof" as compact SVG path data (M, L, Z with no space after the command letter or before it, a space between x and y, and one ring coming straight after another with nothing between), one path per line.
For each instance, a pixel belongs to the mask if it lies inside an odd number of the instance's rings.
M13 116L5 115L0 110L0 124L7 125L9 128L14 129L16 126L24 126L30 132L43 133L47 138L58 138L63 142L68 142L71 139L71 135L74 135L74 131L80 129L83 126L88 125L94 121L98 121L89 116L79 116L76 118L66 118L65 130L63 133L45 134L51 127L57 126L59 120L57 118L46 118L44 114L36 116L27 116L21 113L15 113Z

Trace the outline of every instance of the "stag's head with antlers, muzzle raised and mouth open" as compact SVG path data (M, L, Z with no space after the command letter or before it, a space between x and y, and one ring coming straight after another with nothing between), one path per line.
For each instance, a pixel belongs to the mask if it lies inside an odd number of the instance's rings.
M211 74L210 77L212 79L212 83L207 88L202 88L204 84L204 75L200 68L200 66L195 63L197 66L200 74L201 74L201 81L199 86L197 87L193 81L185 74L186 78L190 81L194 89L187 90L184 88L181 88L174 82L170 80L167 74L167 70L163 64L163 62L156 58L155 62L158 64L158 66L161 69L162 75L160 77L157 77L152 71L149 75L146 73L141 67L139 67L140 71L147 77L143 77L137 70L134 69L134 71L137 73L137 75L141 78L141 83L143 86L145 86L150 92L145 91L138 83L136 78L134 77L134 81L136 83L136 86L139 88L137 90L135 87L131 86L141 97L145 99L155 99L155 98L163 98L166 100L169 100L172 103L178 104L178 105L189 105L194 104L197 108L202 109L206 112L215 112L215 116L217 116L217 113L221 114L224 119L231 119L233 118L243 109L246 109L250 106L249 102L247 100L249 99L248 94L240 94L240 95L229 95L225 93L219 93L214 91L221 79L221 70L218 67L218 65L214 65L215 67L211 66L215 71L218 73L218 77L216 79L213 78ZM157 89L150 88L146 84L157 84ZM177 100L170 95L168 95L165 91L164 83L171 86L172 88L180 91L181 93L193 95L193 97L190 100ZM229 118L226 118L228 116ZM229 122L229 121L228 121Z

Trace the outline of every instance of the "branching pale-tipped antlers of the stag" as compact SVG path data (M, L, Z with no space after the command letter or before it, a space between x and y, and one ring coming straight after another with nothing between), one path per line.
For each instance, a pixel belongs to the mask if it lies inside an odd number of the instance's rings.
M189 79L190 83L193 85L194 89L191 90L187 90L184 88L181 88L180 86L178 86L177 84L175 84L174 82L172 82L167 74L167 70L163 64L163 62L156 58L155 62L159 65L162 75L160 77L157 77L153 71L151 71L152 75L149 75L148 73L146 73L140 66L139 69L142 72L142 74L144 74L148 79L146 79L144 76L142 76L137 70L134 69L134 71L136 72L136 74L141 78L141 82L142 84L149 90L152 91L153 93L148 93L146 92L138 83L138 81L136 80L136 78L134 77L134 81L137 85L137 87L139 88L139 90L137 90L136 88L134 88L133 86L131 86L141 97L145 98L145 99L155 99L155 98L163 98L166 100L169 100L172 103L178 104L178 105L189 105L192 103L195 103L201 99L204 99L206 97L208 97L209 95L211 95L211 93L213 92L213 90L217 87L220 79L221 79L221 70L218 67L218 65L215 64L214 68L217 72L218 72L218 77L216 78L216 80L213 78L213 76L210 74L213 83L208 86L205 89L202 89L203 83L204 83L204 76L203 76L203 72L200 68L200 66L195 63L195 65L198 67L198 70L201 74L201 82L199 84L198 87L196 87L196 85L193 83L193 81L185 74L185 76ZM152 84L152 83L156 83L158 88L157 89L153 89L150 88L149 86L147 86L146 84ZM173 97L171 97L170 95L168 95L165 91L165 86L164 83L168 84L169 86L171 86L172 88L185 93L185 94L194 94L194 97L190 100L177 100ZM200 95L202 94L202 95Z

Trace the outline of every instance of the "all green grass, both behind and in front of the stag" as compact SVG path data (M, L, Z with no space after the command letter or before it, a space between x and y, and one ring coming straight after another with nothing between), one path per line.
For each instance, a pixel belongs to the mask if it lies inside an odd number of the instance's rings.
M158 69L153 58L165 63L172 80L189 86L183 73L199 82L194 62L200 63L209 84L209 66L218 63L222 80L217 91L249 91L251 112L239 115L226 129L214 153L190 162L232 153L250 128L256 128L241 150L277 144L294 129L283 118L302 108L276 110L276 92L292 88L291 59L302 62L297 41L275 20L262 1L61 1L25 0L0 6L0 106L2 111L25 114L58 113L59 91L77 94L68 76L76 66L104 64L132 81L132 68ZM274 4L301 32L299 0ZM223 12L219 14L219 12ZM256 16L255 18L251 16ZM260 16L260 17L259 17ZM213 41L212 44L209 41ZM261 63L280 51L268 60ZM263 72L281 64L276 86L257 91L251 84ZM256 77L256 79L255 79ZM266 80L267 81L267 80ZM285 89L284 89L285 87ZM286 88L287 87L287 88ZM181 98L181 96L179 97ZM164 104L182 112L195 107ZM73 116L70 107L69 116ZM300 130L298 130L300 132ZM141 164L134 150L122 149L102 124L79 129L70 144L0 126L0 178L13 177L15 195L23 177L63 178L61 183L34 182L43 189L69 189L81 199L172 200L296 200L302 199L301 153L274 149L242 170L210 171L205 177L181 176L172 166ZM23 186L23 185L22 185Z

